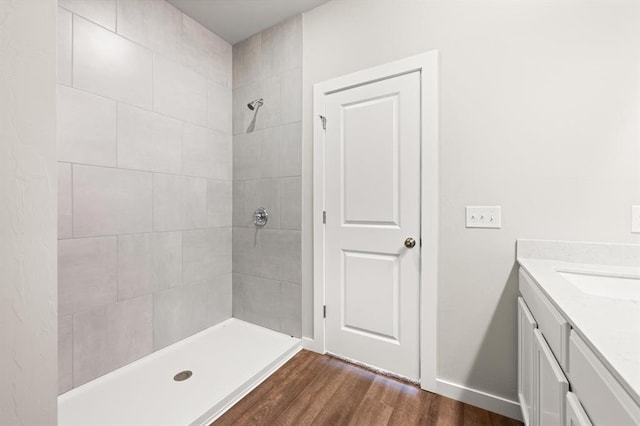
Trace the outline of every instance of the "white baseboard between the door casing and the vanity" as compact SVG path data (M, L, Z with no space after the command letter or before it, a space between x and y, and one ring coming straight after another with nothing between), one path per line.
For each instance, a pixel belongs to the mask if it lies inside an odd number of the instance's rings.
M492 395L477 389L471 389L442 379L436 379L436 382L437 393L440 395L522 421L520 404L516 401L511 401L510 399Z

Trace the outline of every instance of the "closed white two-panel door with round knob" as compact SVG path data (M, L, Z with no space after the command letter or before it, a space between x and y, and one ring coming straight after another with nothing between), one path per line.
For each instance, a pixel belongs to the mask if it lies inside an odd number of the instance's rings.
M417 380L420 72L328 94L325 115L326 349Z

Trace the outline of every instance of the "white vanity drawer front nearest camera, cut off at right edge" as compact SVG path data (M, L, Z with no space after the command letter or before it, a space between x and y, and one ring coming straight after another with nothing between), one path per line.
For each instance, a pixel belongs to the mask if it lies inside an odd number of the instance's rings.
M640 407L574 331L569 355L572 390L595 426L640 425Z

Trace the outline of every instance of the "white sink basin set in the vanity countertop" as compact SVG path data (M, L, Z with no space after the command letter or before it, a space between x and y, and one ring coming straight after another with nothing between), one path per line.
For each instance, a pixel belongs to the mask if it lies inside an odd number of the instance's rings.
M583 293L640 302L640 276L615 276L597 272L558 271Z

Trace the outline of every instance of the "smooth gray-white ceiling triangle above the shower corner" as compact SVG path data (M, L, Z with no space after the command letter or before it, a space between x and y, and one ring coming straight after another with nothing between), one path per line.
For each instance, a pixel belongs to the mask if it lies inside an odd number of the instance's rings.
M168 0L231 44L328 0Z

